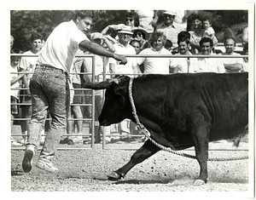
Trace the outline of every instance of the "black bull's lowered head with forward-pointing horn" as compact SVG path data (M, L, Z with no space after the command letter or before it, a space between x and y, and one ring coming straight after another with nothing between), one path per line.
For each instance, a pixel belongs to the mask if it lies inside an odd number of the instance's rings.
M128 94L130 77L119 76L102 83L87 83L87 89L107 89L99 123L108 126L131 118L131 103Z

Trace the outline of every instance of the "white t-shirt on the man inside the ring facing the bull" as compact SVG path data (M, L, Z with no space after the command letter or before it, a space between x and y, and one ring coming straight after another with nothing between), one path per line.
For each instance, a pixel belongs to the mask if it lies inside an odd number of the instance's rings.
M50 33L37 63L54 66L69 73L74 55L79 49L79 43L84 40L89 39L78 29L73 20L62 22Z

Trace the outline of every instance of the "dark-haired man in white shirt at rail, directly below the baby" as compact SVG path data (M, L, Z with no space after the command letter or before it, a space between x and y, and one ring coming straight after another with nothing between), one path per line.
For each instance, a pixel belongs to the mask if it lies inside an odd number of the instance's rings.
M201 54L211 55L213 42L209 37L203 37L200 41ZM197 72L215 72L215 73L224 73L225 68L223 62L215 58L198 58L195 63Z

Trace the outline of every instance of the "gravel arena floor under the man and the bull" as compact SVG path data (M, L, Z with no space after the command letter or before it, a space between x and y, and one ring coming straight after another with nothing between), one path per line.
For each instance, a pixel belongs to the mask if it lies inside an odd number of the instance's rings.
M208 162L209 181L193 186L199 174L195 159L160 151L137 164L125 179L110 181L107 174L123 166L143 143L108 144L102 150L97 144L60 145L61 148L83 147L77 150L58 150L53 163L59 172L49 174L36 167L25 174L21 168L24 150L11 151L11 191L249 191L248 160ZM88 149L86 149L88 148ZM132 150L124 150L132 149ZM123 150L122 150L123 149ZM234 149L227 141L210 143L210 149ZM247 142L237 148L242 151L210 151L209 157L247 156ZM195 155L195 151L185 151ZM34 164L38 157L34 157Z

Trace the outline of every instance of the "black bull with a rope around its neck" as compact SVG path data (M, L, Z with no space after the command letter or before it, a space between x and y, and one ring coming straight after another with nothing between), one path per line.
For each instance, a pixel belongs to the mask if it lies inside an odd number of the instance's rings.
M137 116L162 146L183 150L195 146L200 164L197 182L207 182L208 143L233 139L245 133L248 123L248 73L198 73L143 75L133 81L132 96ZM128 85L130 77L119 83L102 82L91 89L107 89L99 123L108 126L132 116ZM106 85L105 85L106 84ZM108 174L119 180L137 163L160 151L147 140L129 163Z

